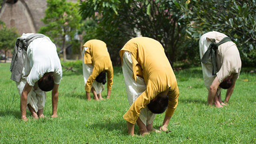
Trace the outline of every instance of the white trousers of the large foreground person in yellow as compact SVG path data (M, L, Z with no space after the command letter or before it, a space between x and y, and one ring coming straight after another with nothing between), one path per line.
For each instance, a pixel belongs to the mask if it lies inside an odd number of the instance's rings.
M125 51L123 54L122 70L124 74L124 81L126 87L126 94L130 106L132 103L146 90L146 84L143 78L136 76L136 82L132 78L132 58L130 52ZM146 106L140 111L140 120L146 125L151 124L156 118L156 114L153 114Z

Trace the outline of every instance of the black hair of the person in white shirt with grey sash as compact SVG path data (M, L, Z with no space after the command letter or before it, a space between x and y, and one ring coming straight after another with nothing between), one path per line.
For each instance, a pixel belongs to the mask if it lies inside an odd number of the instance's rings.
M54 88L54 80L51 75L43 77L42 80L38 80L38 87L45 92L48 92Z

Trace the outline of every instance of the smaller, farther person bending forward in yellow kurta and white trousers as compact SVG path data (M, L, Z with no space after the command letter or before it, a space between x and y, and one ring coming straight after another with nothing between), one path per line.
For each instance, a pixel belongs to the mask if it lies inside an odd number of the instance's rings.
M83 74L86 97L90 100L90 92L94 94L95 100L102 100L101 92L108 78L107 98L113 84L113 66L110 60L106 43L101 40L88 40L82 47Z

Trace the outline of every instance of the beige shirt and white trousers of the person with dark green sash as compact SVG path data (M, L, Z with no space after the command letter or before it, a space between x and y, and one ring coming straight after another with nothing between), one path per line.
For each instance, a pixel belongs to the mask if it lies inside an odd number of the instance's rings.
M204 55L211 42L220 42L223 38L228 37L220 32L212 31L202 35L199 40L200 58ZM209 60L207 64L202 64L204 76L204 84L209 90L216 76L212 76L212 62ZM225 78L233 74L233 80L238 79L242 62L239 51L234 42L225 42L218 46L216 52L217 78L221 83ZM220 90L218 90L219 94Z

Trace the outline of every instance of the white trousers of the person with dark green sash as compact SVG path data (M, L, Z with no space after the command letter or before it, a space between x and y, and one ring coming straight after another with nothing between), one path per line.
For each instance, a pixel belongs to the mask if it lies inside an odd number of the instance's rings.
M206 40L207 35L202 35L199 40L199 51L200 51L200 59L202 59L204 53L207 51L208 47L212 43L211 41ZM206 64L201 62L202 71L203 71L203 78L204 78L204 85L206 86L207 90L210 90L210 86L212 85L213 80L216 76L212 75L212 60L211 58L208 60ZM217 94L219 95L221 92L221 88L219 87L217 90Z

